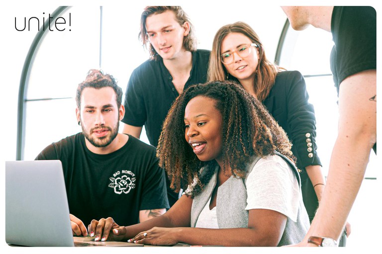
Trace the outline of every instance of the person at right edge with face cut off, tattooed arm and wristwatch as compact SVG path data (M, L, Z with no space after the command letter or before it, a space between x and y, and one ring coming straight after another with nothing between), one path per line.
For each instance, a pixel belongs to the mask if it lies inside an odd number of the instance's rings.
M290 25L331 32L330 67L338 91L338 136L327 185L301 246L336 246L377 153L377 14L371 6L282 6Z

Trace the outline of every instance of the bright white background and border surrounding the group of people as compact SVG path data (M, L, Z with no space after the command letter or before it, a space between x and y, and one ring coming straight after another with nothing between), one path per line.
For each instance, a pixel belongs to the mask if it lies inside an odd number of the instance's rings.
M297 4L295 2L297 1L290 4ZM309 2L314 4L314 1L304 1L305 4ZM369 4L372 3L372 1L369 2ZM125 90L131 71L147 59L147 53L140 46L137 39L139 17L144 7L143 4L141 6L118 3L119 7L115 8L117 6L115 1L107 3L94 1L86 5L79 5L77 2L71 1L59 2L59 4L55 4L53 1L18 4L16 1L9 6L2 7L0 9L3 30L0 37L2 88L0 102L3 112L5 112L1 118L5 140L0 147L1 171L3 171L3 161L15 159L20 74L26 54L36 34L35 28L32 31L16 31L14 29L14 17L21 19L23 17L37 16L42 19L43 16L47 17L47 13L52 13L58 5L66 4L75 5L75 7L68 10L68 12L72 13L72 31L54 31L46 36L40 51L36 55L31 71L27 98L73 97L77 84L84 80L87 71L90 68L99 67L99 16L92 14L99 11L99 5L104 5L103 38L109 38L102 40L102 69L114 75L118 79L119 85ZM219 4L206 1L157 1L156 4L181 4L183 6L195 26L199 40L198 48L200 49L211 48L213 36L222 25L238 20L245 21L260 36L265 45L267 57L270 60L274 59L279 37L286 20L284 12L279 7L280 4L286 3L260 4L259 1L245 0L240 2L220 1ZM349 1L336 1L336 4L349 4ZM367 5L368 3L364 1L362 4ZM381 9L375 7L379 15ZM43 15L42 12L46 14ZM67 14L63 14L63 16L65 15ZM381 21L377 20L377 22L381 27ZM321 67L324 69L323 72L325 72L326 68L326 73L330 73L330 42L329 44L317 43L318 40L330 41L330 34L314 28L295 33L299 34L297 36L299 39L297 39L294 49L288 49L288 52L293 52L293 61L282 62L281 65L288 69L297 69L303 74L316 74L312 70ZM317 40L312 39L314 36ZM286 53L283 52L283 54ZM299 61L301 58L306 59L306 54L309 54L311 61ZM60 59L65 60L60 61ZM68 61L68 59L72 59L72 61ZM317 62L319 66L314 65ZM325 65L322 66L321 63ZM327 77L325 83L308 79L306 82L310 102L315 106L318 152L323 163L323 169L326 172L331 147L336 136L336 92L331 77ZM65 109L66 113L63 113L63 109ZM76 123L74 110L74 100L55 101L53 104L49 104L48 107L44 106L43 102L31 103L27 111L27 140L25 147L30 152L26 151L25 159L34 159L38 152L49 143L80 131L81 129ZM28 112L34 113L28 115ZM60 116L62 114L62 118L54 117L58 114ZM52 118L55 120L50 121ZM144 137L142 138L144 139ZM371 156L371 164L366 176L380 176L381 169L380 166L377 166L378 161L380 161L380 158L375 155ZM4 186L4 183L1 183ZM353 233L347 244L349 248L367 248L378 245L377 239L380 229L378 227L380 225L378 215L380 213L377 211L378 205L381 204L381 197L378 195L378 193L381 193L380 185L380 180L364 181L349 216L349 221L353 226ZM1 199L3 200L3 195L1 195ZM0 232L0 239L4 239L4 230ZM5 242L3 244L5 245ZM9 248L7 249L10 251Z

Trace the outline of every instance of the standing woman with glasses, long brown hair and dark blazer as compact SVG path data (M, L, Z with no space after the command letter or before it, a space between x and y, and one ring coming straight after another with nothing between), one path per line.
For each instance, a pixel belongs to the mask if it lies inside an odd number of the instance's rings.
M208 81L234 80L263 102L292 142L310 221L321 199L325 179L316 152L316 120L298 71L285 71L267 60L255 31L244 22L221 27L213 40Z

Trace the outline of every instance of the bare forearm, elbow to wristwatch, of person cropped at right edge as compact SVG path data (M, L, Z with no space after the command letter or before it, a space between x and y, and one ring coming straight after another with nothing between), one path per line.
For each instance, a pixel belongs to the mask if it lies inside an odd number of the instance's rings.
M338 239L360 189L369 161L371 142L339 137L335 143L325 191L306 239L325 236Z

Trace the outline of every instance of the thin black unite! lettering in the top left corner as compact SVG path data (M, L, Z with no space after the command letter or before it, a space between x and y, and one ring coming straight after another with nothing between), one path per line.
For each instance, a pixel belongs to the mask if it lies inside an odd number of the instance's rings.
M42 14L44 15L45 12L43 12ZM24 22L22 22L22 20ZM42 26L40 26L40 20L42 20ZM47 25L45 23L47 23ZM45 27L45 25L47 27ZM27 19L27 17L23 17L21 18L21 21L19 21L19 18L14 17L14 28L20 32L25 31L26 29L30 31L34 28L37 28L37 31L40 31L40 29L42 29L43 31L45 31L45 29L49 29L49 31L57 30L60 32L65 31L67 28L69 28L69 31L72 31L71 26L72 14L70 12L68 13L68 16L65 17L54 17L51 16L51 14L49 13L46 22L45 16L42 16L42 19L38 17L30 17L29 19Z

